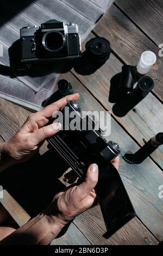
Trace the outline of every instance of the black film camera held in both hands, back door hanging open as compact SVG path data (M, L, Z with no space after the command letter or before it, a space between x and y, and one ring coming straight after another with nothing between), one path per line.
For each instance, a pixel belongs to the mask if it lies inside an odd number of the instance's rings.
M107 238L135 216L120 174L110 163L120 154L120 148L112 141L106 142L101 136L101 131L95 130L95 121L89 115L85 118L82 117L81 108L77 103L70 101L66 107L68 107L68 111L65 112L67 116L64 116L64 120L69 118L70 113L74 111L79 117L77 129L71 130L70 123L68 122L67 126L65 121L64 129L49 138L48 142L80 179L84 178L91 163L98 164L99 179L96 191L107 230L104 236ZM65 114L64 109L62 109L63 115ZM71 120L71 118L68 119L70 122ZM57 119L52 118L49 123L53 123L53 121L57 121ZM85 122L85 130L81 130L83 127L80 125L81 122ZM92 124L94 129L90 129Z

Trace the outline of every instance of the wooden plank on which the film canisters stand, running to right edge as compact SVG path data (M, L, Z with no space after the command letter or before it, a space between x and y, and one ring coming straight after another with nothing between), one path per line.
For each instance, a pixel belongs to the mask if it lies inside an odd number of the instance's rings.
M89 40L93 35L90 35L85 41ZM85 42L84 44L85 45ZM73 72L84 86L92 93L92 95L102 103L102 105L111 111L114 104L110 103L110 80L111 77L122 70L122 63L111 54L108 62L97 70L95 74L90 76L80 76ZM125 117L118 118L114 113L111 114L115 119L123 125L123 127L135 138L135 140L142 146L144 144L143 138L148 141L156 133L162 131L163 127L163 106L159 100L151 93L143 99L133 110L131 110ZM152 159L163 168L163 146L159 147L151 155Z

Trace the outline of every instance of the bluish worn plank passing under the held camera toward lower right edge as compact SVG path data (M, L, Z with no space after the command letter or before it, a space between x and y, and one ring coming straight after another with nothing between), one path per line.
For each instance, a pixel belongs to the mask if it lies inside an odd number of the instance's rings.
M80 93L79 103L84 110L104 110L97 100L87 92L82 84L71 74L61 75L60 78L65 78L70 81L74 92ZM94 81L96 81L96 76ZM98 84L99 83L100 82L98 82ZM91 87L93 88L93 81ZM97 97L99 97L98 90ZM135 152L139 149L138 145L114 119L111 119L111 136L109 136L109 138L120 144L121 155L123 155L125 151L131 150ZM137 165L130 165L121 158L120 175L129 193L131 202L133 202L137 216L146 227L161 240L163 236L163 201L158 198L158 188L163 184L162 171L149 158L142 164ZM90 222L89 225L90 227L91 225L94 227L95 223ZM80 226L78 228L80 229ZM95 236L97 236L97 240L101 239L101 235L97 232L95 232Z

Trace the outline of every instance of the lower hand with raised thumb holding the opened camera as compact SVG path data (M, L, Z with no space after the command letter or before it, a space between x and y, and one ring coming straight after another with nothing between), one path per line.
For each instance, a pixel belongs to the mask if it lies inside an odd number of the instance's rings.
M95 186L98 181L98 166L91 164L86 178L79 185L73 184L66 191L59 192L48 207L46 214L51 222L61 226L72 221L74 217L91 208L97 200Z

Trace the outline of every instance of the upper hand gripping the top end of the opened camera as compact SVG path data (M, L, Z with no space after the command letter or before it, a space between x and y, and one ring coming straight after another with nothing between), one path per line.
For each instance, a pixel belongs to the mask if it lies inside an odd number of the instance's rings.
M8 142L1 145L1 166L2 162L8 163L7 165L10 166L17 161L30 159L46 138L55 135L61 129L59 123L47 125L53 112L59 111L68 101L77 101L78 99L78 93L68 95L39 112L30 114L21 129Z

